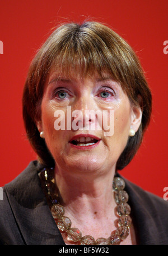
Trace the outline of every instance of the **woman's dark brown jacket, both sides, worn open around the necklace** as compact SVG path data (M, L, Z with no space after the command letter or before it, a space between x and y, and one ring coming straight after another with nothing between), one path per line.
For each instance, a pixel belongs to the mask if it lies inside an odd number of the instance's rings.
M40 186L38 161L4 186L0 244L65 245ZM168 244L168 202L124 179L138 244Z

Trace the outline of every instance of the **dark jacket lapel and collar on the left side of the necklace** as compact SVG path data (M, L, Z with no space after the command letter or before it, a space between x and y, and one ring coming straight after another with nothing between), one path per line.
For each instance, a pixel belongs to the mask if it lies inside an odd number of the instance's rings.
M38 170L33 161L5 186L12 212L25 244L65 244L40 187Z

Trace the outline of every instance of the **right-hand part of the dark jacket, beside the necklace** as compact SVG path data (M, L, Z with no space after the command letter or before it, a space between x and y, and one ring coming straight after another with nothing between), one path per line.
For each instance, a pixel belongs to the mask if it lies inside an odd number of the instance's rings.
M129 195L128 204L139 235L139 244L167 245L168 201L125 178L124 181L125 191Z

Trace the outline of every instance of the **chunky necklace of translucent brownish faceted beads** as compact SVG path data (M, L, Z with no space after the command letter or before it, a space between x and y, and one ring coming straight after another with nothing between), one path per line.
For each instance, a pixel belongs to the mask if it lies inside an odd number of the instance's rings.
M54 169L44 168L40 172L40 181L55 223L57 224L59 231L66 234L67 241L81 245L113 245L120 244L120 242L129 235L129 228L132 220L129 216L130 206L127 203L128 194L123 190L125 182L122 178L114 177L113 180L114 199L117 204L116 213L119 217L118 227L111 232L110 237L107 239L100 237L97 240L90 235L82 236L82 233L78 228L71 227L71 219L64 215L65 209L59 203L59 191L57 186L55 186Z

